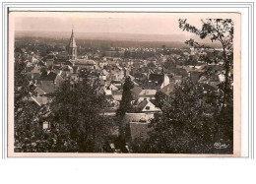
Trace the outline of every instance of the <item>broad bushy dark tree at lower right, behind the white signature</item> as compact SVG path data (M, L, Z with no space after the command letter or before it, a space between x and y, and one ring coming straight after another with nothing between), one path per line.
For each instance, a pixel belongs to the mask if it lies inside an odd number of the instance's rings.
M134 153L232 153L216 150L214 144L224 139L232 144L232 129L222 127L215 92L204 93L201 85L184 80L175 87L170 106L151 121L149 139L136 140ZM226 124L225 124L226 125ZM228 136L226 136L228 135Z

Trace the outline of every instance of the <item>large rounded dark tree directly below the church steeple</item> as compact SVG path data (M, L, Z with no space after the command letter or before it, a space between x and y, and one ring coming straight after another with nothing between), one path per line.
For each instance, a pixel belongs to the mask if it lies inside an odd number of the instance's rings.
M109 121L101 115L103 94L85 80L64 82L54 92L50 105L51 134L55 144L51 152L103 153L109 135Z

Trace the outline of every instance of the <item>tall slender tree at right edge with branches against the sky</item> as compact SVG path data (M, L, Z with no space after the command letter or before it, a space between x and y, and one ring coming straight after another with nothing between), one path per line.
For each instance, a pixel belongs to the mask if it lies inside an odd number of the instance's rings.
M183 31L193 32L199 35L202 39L210 37L212 41L219 41L222 44L224 58L224 84L220 85L220 90L223 92L222 109L224 109L226 103L232 103L232 98L228 96L232 95L232 76L230 73L233 67L233 22L231 19L208 19L206 21L202 21L202 23L202 29L198 30L194 26L189 25L186 19L180 19L179 28ZM209 48L209 46L201 45L194 39L187 40L186 43L196 49ZM214 61L216 62L216 60Z

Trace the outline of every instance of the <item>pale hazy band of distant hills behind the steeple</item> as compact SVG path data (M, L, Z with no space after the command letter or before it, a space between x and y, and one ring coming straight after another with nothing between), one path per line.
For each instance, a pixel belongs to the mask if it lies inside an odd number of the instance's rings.
M69 38L70 31L15 31L16 37L48 37L48 38ZM199 42L220 47L220 44L212 43L210 39L202 40L197 36L186 36L185 34L137 34L119 32L75 32L77 39L110 40L110 41L146 41L146 42L175 42L183 44L185 40L193 38Z

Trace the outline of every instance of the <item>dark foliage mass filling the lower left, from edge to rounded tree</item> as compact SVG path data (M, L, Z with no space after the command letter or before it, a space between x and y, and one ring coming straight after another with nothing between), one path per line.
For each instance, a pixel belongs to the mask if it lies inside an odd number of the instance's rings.
M30 102L30 83L25 64L15 64L15 152L103 153L110 121L103 117L105 97L84 81L65 82L50 95L50 105ZM43 122L50 128L42 129Z

